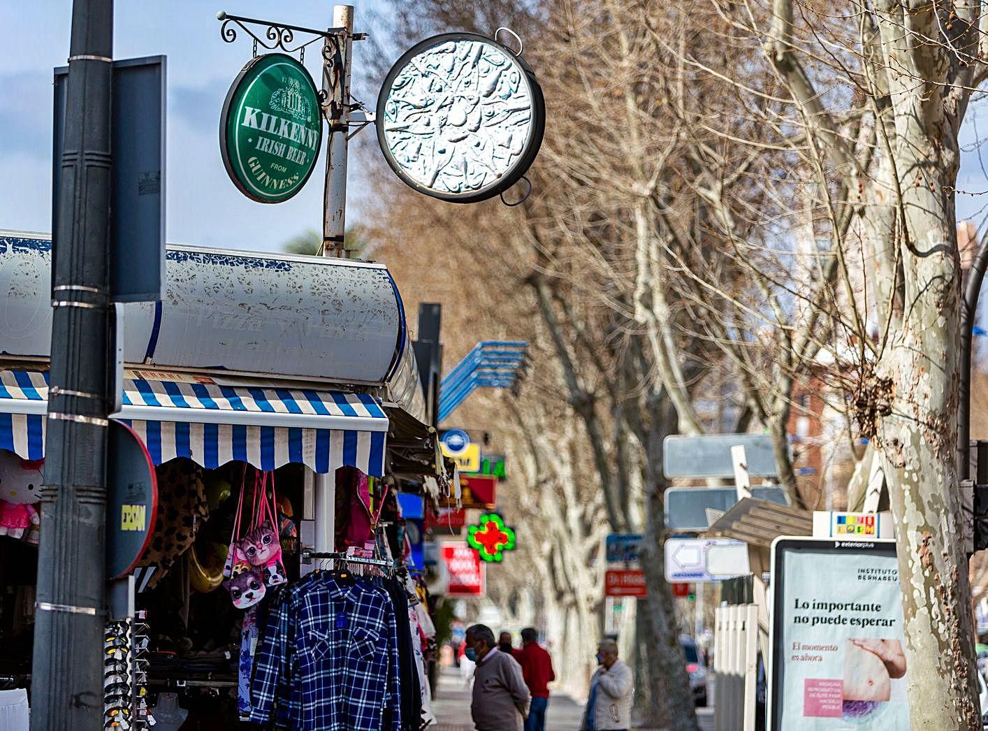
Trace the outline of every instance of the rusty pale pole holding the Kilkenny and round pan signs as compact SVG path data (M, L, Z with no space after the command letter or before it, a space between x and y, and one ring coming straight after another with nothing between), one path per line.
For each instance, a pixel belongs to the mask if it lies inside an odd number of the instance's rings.
M347 134L350 122L350 60L353 54L354 8L351 5L333 6L333 28L345 28L346 37L341 41L343 69L339 79L333 78L333 53L323 53L322 88L333 101L333 90L340 86L341 104L331 107L334 114L329 120L329 144L326 151L326 188L324 190L322 220L322 254L326 257L346 257L343 245L347 211ZM329 46L327 45L327 48Z

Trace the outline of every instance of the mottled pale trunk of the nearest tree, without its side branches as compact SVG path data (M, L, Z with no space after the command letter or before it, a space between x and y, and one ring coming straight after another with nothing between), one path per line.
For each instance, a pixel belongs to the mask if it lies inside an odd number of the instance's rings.
M936 6L880 7L886 62L896 69L889 89L904 223L904 315L866 386L870 403L885 414L879 436L896 524L909 712L914 729L980 728L954 451L960 266L952 191L963 117L958 100L966 97L936 83L949 78L947 49L918 41L940 33Z

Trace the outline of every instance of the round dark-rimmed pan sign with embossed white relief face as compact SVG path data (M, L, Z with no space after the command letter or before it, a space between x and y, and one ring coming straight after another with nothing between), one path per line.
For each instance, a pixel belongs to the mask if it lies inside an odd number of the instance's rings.
M507 191L535 161L545 103L513 50L478 34L444 34L391 67L376 122L401 180L442 201L476 203Z

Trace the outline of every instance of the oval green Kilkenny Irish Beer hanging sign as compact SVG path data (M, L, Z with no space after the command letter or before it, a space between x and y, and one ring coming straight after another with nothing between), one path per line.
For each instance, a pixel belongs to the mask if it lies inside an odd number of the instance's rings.
M219 148L233 184L259 203L302 189L319 157L319 93L308 71L284 53L244 66L223 103Z

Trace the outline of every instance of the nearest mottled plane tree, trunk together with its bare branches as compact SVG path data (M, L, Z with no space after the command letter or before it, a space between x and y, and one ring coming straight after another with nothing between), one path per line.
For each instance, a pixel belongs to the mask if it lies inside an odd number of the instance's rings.
M834 370L847 367L834 375L853 431L869 440L864 462L877 459L887 483L913 728L979 727L954 451L961 278L954 186L960 125L985 73L982 3L708 7L739 46L763 47L769 74L758 80L750 67L686 55L723 82L739 110L755 111L774 130L776 147L726 126L722 138L757 145L772 160L758 171L766 189L795 179L816 186L813 225L831 242L840 285L814 306L835 323L830 347L843 355ZM784 201L771 214L786 215ZM856 485L870 471L860 470ZM856 502L861 493L856 488Z

